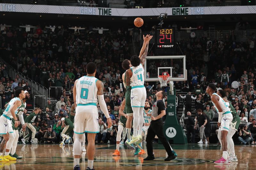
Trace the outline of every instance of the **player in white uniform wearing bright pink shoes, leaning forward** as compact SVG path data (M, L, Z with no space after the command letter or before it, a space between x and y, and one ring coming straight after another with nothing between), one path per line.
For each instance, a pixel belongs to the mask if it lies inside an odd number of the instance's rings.
M221 133L221 143L222 143L223 154L222 154L222 157L219 160L215 161L214 163L228 164L227 135L228 135L229 126L233 119L233 116L226 102L217 93L215 93L215 90L216 90L216 86L212 83L210 83L206 88L206 93L208 93L211 96L213 106L219 113L218 126L220 127L219 133Z

